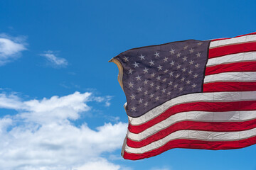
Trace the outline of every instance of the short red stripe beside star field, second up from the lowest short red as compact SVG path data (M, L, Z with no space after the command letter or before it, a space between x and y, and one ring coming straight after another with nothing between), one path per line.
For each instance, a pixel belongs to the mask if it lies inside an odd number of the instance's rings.
M256 62L236 62L206 67L206 76L222 72L255 72Z

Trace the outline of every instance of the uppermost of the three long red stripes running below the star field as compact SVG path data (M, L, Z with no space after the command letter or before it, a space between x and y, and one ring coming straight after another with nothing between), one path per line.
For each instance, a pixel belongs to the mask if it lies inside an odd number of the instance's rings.
M128 125L128 130L133 133L139 133L159 123L171 115L185 111L254 111L256 110L256 101L233 101L233 102L195 102L183 103L172 106L156 118L149 120L142 125Z

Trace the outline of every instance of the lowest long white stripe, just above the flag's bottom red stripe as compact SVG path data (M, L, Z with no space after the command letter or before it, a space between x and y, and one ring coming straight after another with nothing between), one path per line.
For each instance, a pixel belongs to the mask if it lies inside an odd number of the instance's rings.
M164 137L161 140L152 142L149 145L140 148L132 148L125 146L125 151L134 154L142 154L144 152L149 152L153 149L162 147L167 142L177 139L187 139L187 140L204 140L204 141L234 141L243 140L256 135L256 128L251 130L243 130L240 132L208 132L201 130L179 130L171 133L170 135Z

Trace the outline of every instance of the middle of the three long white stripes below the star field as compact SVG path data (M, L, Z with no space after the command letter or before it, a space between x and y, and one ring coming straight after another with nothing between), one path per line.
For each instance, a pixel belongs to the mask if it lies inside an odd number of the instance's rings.
M175 115L171 115L166 120L157 123L150 128L147 128L143 132L138 134L129 132L127 136L130 140L141 141L146 137L154 135L156 132L160 130L164 130L168 128L170 125L174 125L174 123L178 123L181 121L192 120L192 121L200 121L200 122L231 122L231 121L246 121L252 120L256 118L256 111L230 111L230 112L206 112L206 111L190 111L190 112L182 112L177 113Z

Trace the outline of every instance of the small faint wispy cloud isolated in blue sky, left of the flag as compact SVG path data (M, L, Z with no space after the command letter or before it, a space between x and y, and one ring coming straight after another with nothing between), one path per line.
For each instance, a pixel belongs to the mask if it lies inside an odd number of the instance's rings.
M53 51L46 51L43 54L41 54L41 56L46 57L46 59L48 60L48 62L50 62L50 64L53 67L66 67L68 65L68 61L65 60L64 58L61 57L56 57L56 55L54 54Z

